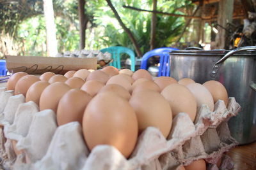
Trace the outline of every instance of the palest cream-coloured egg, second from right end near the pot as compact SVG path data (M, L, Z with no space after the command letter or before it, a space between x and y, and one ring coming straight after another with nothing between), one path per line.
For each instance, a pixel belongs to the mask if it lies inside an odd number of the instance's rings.
M211 111L214 109L214 101L209 90L199 83L190 83L187 85L188 89L196 98L197 107L206 104Z

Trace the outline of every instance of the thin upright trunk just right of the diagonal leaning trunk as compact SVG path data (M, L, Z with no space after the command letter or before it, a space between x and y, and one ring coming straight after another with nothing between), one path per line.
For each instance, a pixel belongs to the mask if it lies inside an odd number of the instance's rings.
M157 10L157 0L153 1L153 11ZM150 50L154 49L154 45L155 45L155 39L156 39L156 22L157 22L157 18L156 18L156 12L152 13L152 20L151 20L151 31L150 31Z

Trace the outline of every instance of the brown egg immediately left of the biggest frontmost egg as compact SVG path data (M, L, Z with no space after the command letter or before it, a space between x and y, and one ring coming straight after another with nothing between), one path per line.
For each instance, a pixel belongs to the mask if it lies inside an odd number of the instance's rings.
M92 97L80 89L71 89L61 97L57 110L58 125L77 121L83 124L84 110Z

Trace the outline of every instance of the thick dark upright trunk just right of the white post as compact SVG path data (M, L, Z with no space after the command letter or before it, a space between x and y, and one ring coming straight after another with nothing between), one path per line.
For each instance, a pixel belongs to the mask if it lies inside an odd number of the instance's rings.
M78 11L79 11L79 48L84 49L86 39L86 27L88 24L88 17L84 11L85 0L78 0Z

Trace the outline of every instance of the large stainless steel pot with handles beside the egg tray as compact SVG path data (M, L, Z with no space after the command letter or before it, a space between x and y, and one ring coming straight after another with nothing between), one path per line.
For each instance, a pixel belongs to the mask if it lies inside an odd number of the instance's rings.
M256 141L256 46L226 50L185 50L170 53L170 75L198 83L217 80L225 85L228 96L241 105L239 115L230 118L230 132L239 144Z

